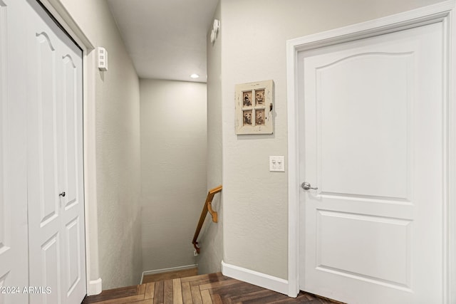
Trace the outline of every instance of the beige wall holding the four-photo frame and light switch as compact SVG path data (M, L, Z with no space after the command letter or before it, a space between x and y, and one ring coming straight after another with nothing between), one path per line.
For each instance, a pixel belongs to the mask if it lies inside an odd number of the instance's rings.
M286 40L436 2L221 0L224 262L288 276L287 175L268 167L269 155L287 154ZM274 135L237 136L234 85L268 79Z

